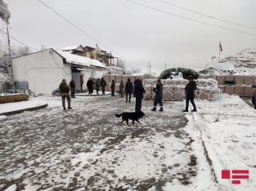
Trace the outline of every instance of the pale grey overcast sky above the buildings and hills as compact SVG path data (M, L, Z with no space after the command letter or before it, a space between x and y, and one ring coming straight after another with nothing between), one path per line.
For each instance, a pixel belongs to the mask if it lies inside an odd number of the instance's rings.
M146 72L149 61L151 71L156 73L164 70L165 62L167 69L182 66L203 69L212 56L218 57L219 41L223 49L221 58L256 47L256 36L246 34L256 34L255 0L163 0L254 29L200 16L159 0L133 0L160 11L245 33L185 20L126 0L41 1L97 40L76 29L38 0L4 0L11 11L12 37L37 49L41 48L41 43L57 49L80 44L95 47L97 43L102 50L111 49L114 56L128 59L125 60L128 67L141 68L143 72ZM2 29L2 20L0 24ZM2 34L0 40L5 41ZM11 43L20 45L12 39Z

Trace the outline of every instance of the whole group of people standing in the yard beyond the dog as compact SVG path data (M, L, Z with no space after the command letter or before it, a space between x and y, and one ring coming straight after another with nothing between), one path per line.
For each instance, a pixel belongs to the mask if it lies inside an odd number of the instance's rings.
M191 101L191 104L193 105L193 109L191 110L192 112L196 112L196 106L195 106L195 90L196 90L196 83L195 81L193 81L193 78L190 76L187 78L188 79L188 83L186 84L186 109L184 109L182 112L188 112L188 106L189 106L189 102ZM134 81L134 92L133 92L133 96L136 98L136 104L135 104L135 111L139 112L141 111L141 102L143 99L143 94L146 92L144 87L142 86L142 82L143 82L143 78L137 78ZM92 94L93 92L93 81L92 78L88 79L87 82L87 87L89 90L88 94ZM81 85L81 91L83 91L83 77L81 75L80 77L80 85ZM99 89L101 87L102 90L102 94L105 94L105 87L106 87L106 81L104 78L101 78L101 80L98 78L97 82L96 82L96 91L97 91L97 95L99 94ZM115 81L112 80L111 82L111 96L115 96ZM125 89L124 89L125 88ZM74 96L74 90L75 90L75 83L74 83L74 78L71 79L70 81L70 86L65 82L65 79L62 79L62 82L60 84L59 90L61 91L61 98L62 98L62 106L63 109L65 110L65 98L68 100L68 109L72 109L70 107L71 104L71 99L70 99L70 95L71 98L75 98ZM69 93L71 90L71 94ZM120 97L124 98L124 91L126 92L126 102L131 102L131 94L133 91L133 85L131 82L131 79L128 78L128 82L125 83L124 86L124 82L121 81L120 85L119 85L119 91L120 91ZM153 91L155 91L155 101L154 101L154 107L153 109L151 109L152 111L156 111L156 106L159 104L160 112L164 111L163 108L163 84L160 80L160 78L157 80L157 84L156 87L153 89ZM129 97L128 97L129 96Z

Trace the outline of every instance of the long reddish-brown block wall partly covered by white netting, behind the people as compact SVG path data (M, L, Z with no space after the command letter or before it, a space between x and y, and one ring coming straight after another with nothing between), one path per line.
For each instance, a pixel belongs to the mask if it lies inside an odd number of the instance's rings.
M107 82L106 91L111 91L110 86L112 80L115 81L115 91L119 91L119 84L123 80L124 84L128 81L128 78L131 79L131 82L139 78L139 76L123 76L123 75L105 75L103 77ZM157 83L159 77L156 76L143 76L144 78L144 87L146 94L144 96L145 100L155 99L155 92L152 89ZM215 81L216 80L216 81ZM235 81L236 85L224 85L225 81ZM165 100L182 100L185 98L185 87L188 82L186 79L168 79L162 80L164 83L164 99ZM238 96L253 96L254 88L251 86L256 84L256 78L254 76L233 76L233 75L222 75L222 76L208 76L200 75L198 79L195 80L197 83L197 90L195 91L195 99L199 98L202 100L211 100L213 95L216 94L215 91L209 89L211 84L209 82L216 82L216 85L219 88L219 92L227 93L229 95L238 95ZM217 89L218 89L217 88Z

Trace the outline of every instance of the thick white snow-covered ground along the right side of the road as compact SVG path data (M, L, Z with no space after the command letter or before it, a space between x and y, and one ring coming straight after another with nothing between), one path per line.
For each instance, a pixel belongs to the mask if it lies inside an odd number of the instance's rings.
M207 153L218 181L216 190L256 190L256 110L239 96L223 95L220 100L197 100L196 104L198 112L186 115L186 132L195 140L192 148L199 152L196 156L203 152L205 157ZM249 180L231 184L231 180L222 180L222 170L249 170ZM207 184L195 188L207 187L214 190ZM195 188L192 184L191 190Z

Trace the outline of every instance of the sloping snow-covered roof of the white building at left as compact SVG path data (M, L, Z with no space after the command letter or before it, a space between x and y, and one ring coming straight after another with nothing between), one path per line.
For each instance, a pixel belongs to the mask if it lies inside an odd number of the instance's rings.
M56 50L54 50L56 51ZM88 57L83 57L83 56L77 56L73 55L68 51L56 51L60 56L65 58L66 62L69 64L79 64L83 66L88 66L88 67L101 67L101 68L106 68L104 64L99 62L98 60L92 60Z

